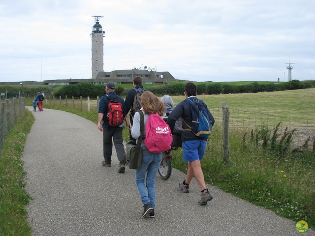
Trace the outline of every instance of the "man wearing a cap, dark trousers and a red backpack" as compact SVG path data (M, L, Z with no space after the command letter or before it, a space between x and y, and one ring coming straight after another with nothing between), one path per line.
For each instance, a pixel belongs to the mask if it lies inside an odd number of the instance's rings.
M108 120L108 103L110 99L115 99L118 97L118 101L123 107L123 116L126 116L126 104L122 97L117 96L115 92L115 84L113 82L108 82L105 86L105 91L107 96L102 96L99 100L98 106L98 119L97 126L98 129L103 132L103 157L102 165L106 167L111 167L112 162L112 150L113 142L115 145L117 157L119 160L119 173L125 172L126 157L125 149L123 145L123 127L121 126L110 126ZM109 98L110 97L110 98ZM101 122L103 123L101 124ZM112 142L113 139L113 142Z

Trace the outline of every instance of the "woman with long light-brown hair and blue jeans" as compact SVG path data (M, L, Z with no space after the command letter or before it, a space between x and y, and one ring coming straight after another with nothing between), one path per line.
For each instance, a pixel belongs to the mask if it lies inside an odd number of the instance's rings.
M159 116L163 116L165 112L164 103L152 92L145 91L141 95L140 109L144 114L144 132L142 139L145 139L145 126L150 114L157 113ZM131 129L131 135L134 139L140 137L140 114L137 112L133 118L133 125ZM143 203L144 212L143 217L155 217L156 206L156 176L158 167L162 159L162 153L153 153L145 146L144 142L141 143L142 148L142 162L140 169L136 170L136 184ZM145 174L147 176L145 178ZM146 181L146 183L145 183Z

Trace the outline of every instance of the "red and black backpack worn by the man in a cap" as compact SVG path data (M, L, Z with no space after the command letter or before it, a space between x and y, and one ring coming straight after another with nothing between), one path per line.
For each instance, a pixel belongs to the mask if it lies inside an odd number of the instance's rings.
M110 126L119 126L124 123L123 105L119 102L119 96L111 98L108 96L108 121Z

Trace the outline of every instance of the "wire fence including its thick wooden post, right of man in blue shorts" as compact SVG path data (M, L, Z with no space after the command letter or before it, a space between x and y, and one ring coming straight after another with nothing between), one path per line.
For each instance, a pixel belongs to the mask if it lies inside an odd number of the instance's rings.
M226 165L233 165L235 160L249 163L250 155L315 172L315 120L243 111L227 105L211 108L211 112L216 118L211 146L220 153L214 156Z

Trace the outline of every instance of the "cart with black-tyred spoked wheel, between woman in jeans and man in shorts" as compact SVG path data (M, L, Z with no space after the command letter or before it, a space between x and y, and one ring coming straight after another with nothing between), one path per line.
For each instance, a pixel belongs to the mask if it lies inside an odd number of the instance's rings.
M168 179L172 174L172 151L182 147L181 139L181 136L173 135L171 149L162 152L162 160L158 168L158 174L162 179Z

